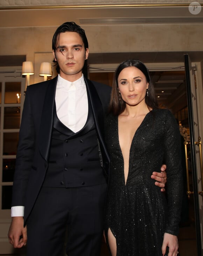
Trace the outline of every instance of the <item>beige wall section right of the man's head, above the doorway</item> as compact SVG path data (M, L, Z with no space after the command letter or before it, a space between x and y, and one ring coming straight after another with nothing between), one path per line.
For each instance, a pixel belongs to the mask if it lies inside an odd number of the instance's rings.
M91 52L202 51L203 24L84 27Z

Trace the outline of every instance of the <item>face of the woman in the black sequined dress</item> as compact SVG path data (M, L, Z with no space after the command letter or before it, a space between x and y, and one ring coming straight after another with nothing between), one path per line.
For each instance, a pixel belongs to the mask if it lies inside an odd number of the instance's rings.
M118 76L118 89L126 104L133 106L145 103L149 83L142 71L134 66L123 69Z

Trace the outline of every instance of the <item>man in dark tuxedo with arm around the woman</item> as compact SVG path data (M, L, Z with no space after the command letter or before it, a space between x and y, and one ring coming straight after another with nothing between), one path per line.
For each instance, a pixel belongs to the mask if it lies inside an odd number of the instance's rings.
M59 256L67 228L68 256L99 256L110 162L103 117L110 87L84 78L88 42L75 23L57 28L52 49L59 75L26 91L9 242L15 248L27 243L28 256ZM158 175L152 178L166 177Z

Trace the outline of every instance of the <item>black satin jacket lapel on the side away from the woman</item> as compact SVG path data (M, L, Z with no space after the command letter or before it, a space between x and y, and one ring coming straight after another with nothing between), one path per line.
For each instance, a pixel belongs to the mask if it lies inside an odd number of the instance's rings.
M53 113L56 92L57 77L52 79L47 86L47 92L44 98L42 119L39 131L39 150L42 157L47 161L51 134L53 129Z

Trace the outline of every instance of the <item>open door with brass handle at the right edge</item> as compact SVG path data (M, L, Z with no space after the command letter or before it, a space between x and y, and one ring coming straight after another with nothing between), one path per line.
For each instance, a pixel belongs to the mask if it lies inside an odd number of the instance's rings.
M188 196L194 194L194 209L195 209L195 224L196 224L196 245L197 255L202 255L202 191L203 191L203 176L202 176L202 151L201 151L201 138L199 128L199 120L201 120L198 113L197 101L197 84L195 76L195 66L191 65L189 56L184 56L185 71L186 71L186 88L187 88L187 102L188 102L188 119L190 129L190 156L191 156L191 169L193 178L193 190L189 191Z

